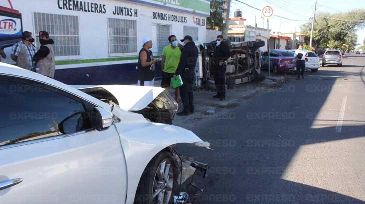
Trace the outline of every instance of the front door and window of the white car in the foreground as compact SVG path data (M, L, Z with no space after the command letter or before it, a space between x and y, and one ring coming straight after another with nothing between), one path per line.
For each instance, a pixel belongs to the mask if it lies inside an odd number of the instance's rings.
M125 203L118 132L114 125L95 129L94 107L55 87L0 75L0 203Z

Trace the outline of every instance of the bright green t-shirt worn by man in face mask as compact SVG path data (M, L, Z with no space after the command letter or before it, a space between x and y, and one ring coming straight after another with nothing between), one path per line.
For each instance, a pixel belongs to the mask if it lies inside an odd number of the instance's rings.
M175 73L179 66L181 51L179 47L172 48L171 45L166 46L162 51L162 56L165 57L164 72Z

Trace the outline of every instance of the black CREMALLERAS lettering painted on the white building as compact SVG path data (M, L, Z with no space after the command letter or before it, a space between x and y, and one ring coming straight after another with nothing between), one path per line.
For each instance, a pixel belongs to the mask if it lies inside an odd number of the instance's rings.
M72 10L79 12L102 13L107 12L106 5L100 3L91 3L80 0L57 0L60 10Z

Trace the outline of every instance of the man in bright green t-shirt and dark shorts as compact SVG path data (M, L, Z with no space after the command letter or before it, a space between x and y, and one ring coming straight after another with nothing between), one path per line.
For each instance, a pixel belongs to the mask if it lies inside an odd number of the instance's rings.
M181 50L178 47L179 43L176 40L175 35L169 36L170 45L166 46L162 51L162 81L161 87L169 88L171 85L171 78L176 72L177 67L179 66ZM179 88L175 89L175 100L178 102L179 99Z

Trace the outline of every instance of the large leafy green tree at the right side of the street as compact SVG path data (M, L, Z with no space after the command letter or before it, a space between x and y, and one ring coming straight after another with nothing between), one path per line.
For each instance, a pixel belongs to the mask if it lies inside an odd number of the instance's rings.
M357 45L356 31L363 27L365 27L365 9L332 15L319 13L313 31L313 43L324 49L353 49ZM303 24L301 30L303 34L310 36L311 23Z

